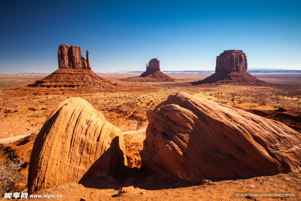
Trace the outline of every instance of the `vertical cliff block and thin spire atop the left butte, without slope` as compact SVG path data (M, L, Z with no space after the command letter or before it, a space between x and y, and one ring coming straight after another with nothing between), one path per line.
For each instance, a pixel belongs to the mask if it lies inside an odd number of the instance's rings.
M57 51L58 68L91 70L88 50L86 58L82 57L82 49L77 46L60 45Z

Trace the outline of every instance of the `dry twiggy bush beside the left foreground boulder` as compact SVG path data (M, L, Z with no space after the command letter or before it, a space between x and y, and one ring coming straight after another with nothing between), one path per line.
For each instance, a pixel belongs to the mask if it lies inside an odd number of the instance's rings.
M20 173L23 160L23 158L20 160L9 158L2 160L0 164L0 196L5 193L17 192L19 184L26 180L26 175Z

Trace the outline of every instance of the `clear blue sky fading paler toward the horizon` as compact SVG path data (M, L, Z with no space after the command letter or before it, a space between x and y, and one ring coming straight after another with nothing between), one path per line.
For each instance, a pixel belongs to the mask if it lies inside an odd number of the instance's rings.
M53 72L61 44L94 72L214 70L243 50L249 68L301 70L301 1L5 1L0 73Z

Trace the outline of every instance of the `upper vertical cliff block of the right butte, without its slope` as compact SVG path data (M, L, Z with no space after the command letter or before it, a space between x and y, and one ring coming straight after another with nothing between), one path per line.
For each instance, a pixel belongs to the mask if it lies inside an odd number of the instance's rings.
M242 50L224 50L216 57L215 72L247 72L247 56Z

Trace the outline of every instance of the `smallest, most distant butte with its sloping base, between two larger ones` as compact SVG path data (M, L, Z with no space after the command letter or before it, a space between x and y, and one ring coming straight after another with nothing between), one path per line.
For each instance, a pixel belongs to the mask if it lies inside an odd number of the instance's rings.
M126 79L120 79L122 81L134 81L134 82L173 82L174 78L169 77L168 75L160 71L160 61L157 58L151 59L146 64L146 71L138 77L129 77Z

